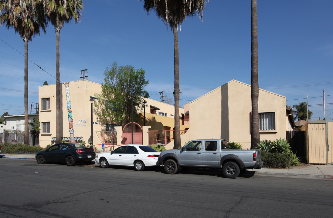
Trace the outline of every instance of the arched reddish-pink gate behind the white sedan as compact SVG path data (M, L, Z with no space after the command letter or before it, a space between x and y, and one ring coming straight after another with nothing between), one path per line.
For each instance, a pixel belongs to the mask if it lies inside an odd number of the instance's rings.
M142 145L142 128L139 124L133 123L133 144ZM132 144L132 123L126 124L122 133L122 144Z

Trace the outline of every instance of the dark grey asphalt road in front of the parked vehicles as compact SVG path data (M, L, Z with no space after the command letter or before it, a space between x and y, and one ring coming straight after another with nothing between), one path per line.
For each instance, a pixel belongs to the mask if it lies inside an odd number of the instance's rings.
M333 181L0 159L0 217L332 217Z

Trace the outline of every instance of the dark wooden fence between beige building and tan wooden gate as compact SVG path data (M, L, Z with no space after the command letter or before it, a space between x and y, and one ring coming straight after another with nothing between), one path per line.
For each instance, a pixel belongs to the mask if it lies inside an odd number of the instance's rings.
M287 141L290 143L291 151L296 153L297 157L305 157L306 140L305 131L287 131Z

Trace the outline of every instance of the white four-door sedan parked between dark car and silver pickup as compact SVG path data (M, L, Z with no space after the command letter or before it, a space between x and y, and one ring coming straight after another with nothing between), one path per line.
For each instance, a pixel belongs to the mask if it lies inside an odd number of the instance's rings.
M102 168L124 165L142 171L145 166L158 166L159 156L160 152L146 145L122 145L112 152L98 154L95 161Z

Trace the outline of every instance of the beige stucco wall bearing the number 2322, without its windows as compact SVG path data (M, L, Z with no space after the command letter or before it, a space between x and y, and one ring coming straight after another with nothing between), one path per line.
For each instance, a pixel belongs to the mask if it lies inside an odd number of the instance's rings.
M73 116L74 137L83 137L88 145L91 141L91 101L90 96L94 96L94 92L100 93L101 84L88 80L78 80L69 82L69 92L71 97L71 107ZM51 144L51 137L56 137L56 85L39 86L39 121L50 122L50 134L40 134L39 143L41 147ZM50 110L41 110L42 98L50 98ZM79 123L84 120L85 123ZM93 114L93 121L97 122L96 116ZM66 102L65 84L60 84L60 135L61 137L70 137L68 112ZM101 131L101 125L93 125L93 141L94 144L100 144L96 131Z

